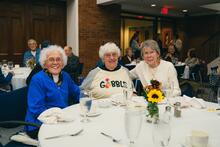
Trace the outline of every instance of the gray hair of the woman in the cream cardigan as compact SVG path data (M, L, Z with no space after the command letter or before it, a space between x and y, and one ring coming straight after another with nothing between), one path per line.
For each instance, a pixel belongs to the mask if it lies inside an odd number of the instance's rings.
M155 50L155 51L157 51L157 53L160 55L160 47L159 47L157 41L152 40L152 39L148 39L148 40L141 43L141 55L142 55L142 57L143 57L144 49L148 48L148 47Z

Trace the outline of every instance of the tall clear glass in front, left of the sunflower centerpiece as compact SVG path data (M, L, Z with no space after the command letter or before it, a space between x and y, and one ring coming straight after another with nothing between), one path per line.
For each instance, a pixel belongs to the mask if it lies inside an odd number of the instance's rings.
M125 110L125 131L129 139L129 146L134 145L142 126L143 112L138 108Z

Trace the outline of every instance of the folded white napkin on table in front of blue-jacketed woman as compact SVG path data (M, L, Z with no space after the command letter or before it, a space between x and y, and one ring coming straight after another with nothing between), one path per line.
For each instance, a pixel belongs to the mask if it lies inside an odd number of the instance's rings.
M45 110L40 114L38 119L45 124L56 124L58 122L69 122L74 120L71 115L65 113L58 107Z

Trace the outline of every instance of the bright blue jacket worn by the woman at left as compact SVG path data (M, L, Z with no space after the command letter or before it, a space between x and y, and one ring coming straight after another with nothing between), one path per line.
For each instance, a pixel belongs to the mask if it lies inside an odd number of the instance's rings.
M37 117L45 110L52 107L65 108L68 106L68 98L75 96L79 100L80 90L70 76L62 71L63 81L58 86L44 71L33 76L28 89L28 110L26 121L39 123ZM35 127L29 126L26 131L32 131Z

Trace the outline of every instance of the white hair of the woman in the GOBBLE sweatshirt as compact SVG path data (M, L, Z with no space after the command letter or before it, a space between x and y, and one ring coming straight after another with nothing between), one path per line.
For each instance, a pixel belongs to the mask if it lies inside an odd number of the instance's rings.
M121 55L121 51L115 43L107 42L106 44L100 46L100 48L99 48L99 57L101 59L103 59L104 55L106 53L110 53L110 52L117 53L118 57L120 57L120 55Z

